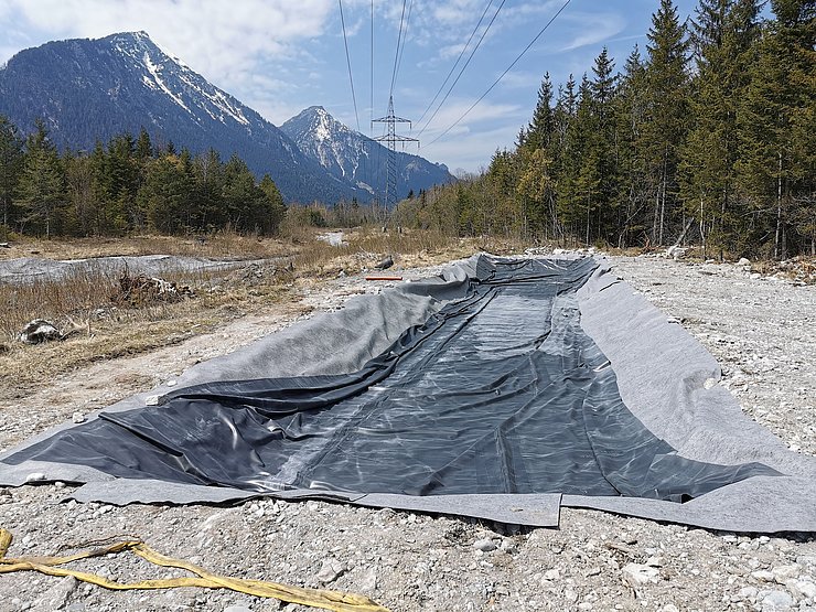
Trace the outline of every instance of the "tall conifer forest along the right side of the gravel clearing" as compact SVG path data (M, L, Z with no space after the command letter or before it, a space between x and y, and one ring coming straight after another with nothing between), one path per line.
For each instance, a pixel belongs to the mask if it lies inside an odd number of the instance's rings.
M700 0L680 23L653 15L645 56L615 73L545 75L513 150L454 185L400 203L404 226L565 245L707 256L816 255L816 2Z

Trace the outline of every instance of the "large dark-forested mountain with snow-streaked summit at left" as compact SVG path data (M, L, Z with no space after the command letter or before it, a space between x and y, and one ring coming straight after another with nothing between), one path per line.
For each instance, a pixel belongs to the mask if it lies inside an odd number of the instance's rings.
M157 144L238 153L269 173L289 201L332 203L368 193L326 172L278 128L144 32L46 43L0 68L0 114L24 132L43 118L60 148L90 150L97 140L144 127Z

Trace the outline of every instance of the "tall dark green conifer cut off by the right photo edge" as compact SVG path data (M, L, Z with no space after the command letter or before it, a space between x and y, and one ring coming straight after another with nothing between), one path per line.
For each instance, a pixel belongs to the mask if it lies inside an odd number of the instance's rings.
M776 20L758 43L739 108L740 180L754 223L772 233L773 255L788 253L788 229L816 250L814 236L814 96L816 3L772 0ZM770 218L765 211L773 211ZM804 241L803 240L803 241ZM804 245L803 245L804 246Z

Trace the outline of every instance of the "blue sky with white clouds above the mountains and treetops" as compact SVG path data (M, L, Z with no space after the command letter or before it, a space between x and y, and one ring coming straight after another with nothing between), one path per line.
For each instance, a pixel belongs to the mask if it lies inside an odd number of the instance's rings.
M459 125L437 139L490 87L565 0L407 0L407 35L394 86L396 114L419 121L419 154L452 171L477 171L497 148L512 146L533 112L545 72L557 85L579 80L608 46L618 67L646 32L658 0L571 0L538 42ZM352 128L352 103L337 0L0 0L0 63L50 40L100 37L147 31L171 55L280 125L321 105ZM675 0L681 19L696 0ZM372 2L342 2L348 34L359 128L386 112L394 74L402 0L374 0L374 105L372 107ZM431 99L485 11L464 60L491 19L481 46L433 120ZM402 20L405 23L405 20ZM453 73L453 77L458 74ZM451 78L452 82L452 78ZM449 85L450 86L450 83ZM447 88L438 98L437 105ZM421 131L421 133L419 133ZM436 142L433 142L436 140ZM417 152L416 146L406 150Z

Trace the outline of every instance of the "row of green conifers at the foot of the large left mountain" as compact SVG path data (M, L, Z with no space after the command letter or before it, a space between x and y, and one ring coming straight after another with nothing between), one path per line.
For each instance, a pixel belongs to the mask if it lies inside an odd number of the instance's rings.
M275 182L257 183L237 155L211 149L193 155L172 143L157 148L142 130L90 152L60 154L37 121L21 138L0 116L0 235L121 235L237 232L272 234L286 206Z

